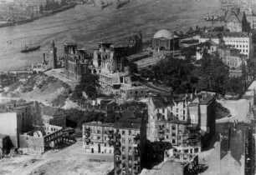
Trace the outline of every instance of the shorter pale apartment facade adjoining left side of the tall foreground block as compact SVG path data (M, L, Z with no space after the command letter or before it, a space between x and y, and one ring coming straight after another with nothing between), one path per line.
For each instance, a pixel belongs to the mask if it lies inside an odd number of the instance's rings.
M85 122L83 124L83 148L86 153L114 154L114 124Z

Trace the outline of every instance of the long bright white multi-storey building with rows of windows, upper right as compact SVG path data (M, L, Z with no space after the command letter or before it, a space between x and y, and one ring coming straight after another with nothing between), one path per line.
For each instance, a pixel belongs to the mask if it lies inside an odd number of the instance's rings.
M212 42L220 44L220 36L228 47L236 48L241 54L251 57L253 52L252 37L248 32L204 32L199 38L199 42Z

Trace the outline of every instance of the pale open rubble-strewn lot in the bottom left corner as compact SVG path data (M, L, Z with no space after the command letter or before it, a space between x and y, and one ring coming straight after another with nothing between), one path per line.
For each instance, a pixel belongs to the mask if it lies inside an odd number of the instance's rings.
M113 155L87 154L82 143L41 155L17 155L0 160L0 174L16 175L97 175L114 168ZM100 159L100 162L96 160Z

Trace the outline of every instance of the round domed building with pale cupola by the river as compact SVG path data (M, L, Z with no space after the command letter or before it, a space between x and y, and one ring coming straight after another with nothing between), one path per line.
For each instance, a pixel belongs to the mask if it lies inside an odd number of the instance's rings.
M172 32L162 29L154 35L152 47L160 51L173 51L179 49L179 39Z

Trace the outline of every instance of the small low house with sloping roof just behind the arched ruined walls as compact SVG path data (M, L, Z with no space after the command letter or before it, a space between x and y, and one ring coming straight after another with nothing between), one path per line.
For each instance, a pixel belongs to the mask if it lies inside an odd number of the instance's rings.
M43 108L43 122L44 124L50 124L66 127L66 114L59 107L44 107Z

